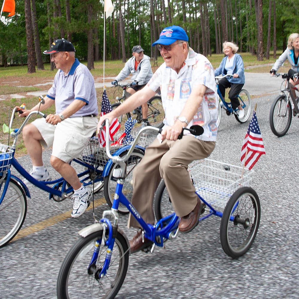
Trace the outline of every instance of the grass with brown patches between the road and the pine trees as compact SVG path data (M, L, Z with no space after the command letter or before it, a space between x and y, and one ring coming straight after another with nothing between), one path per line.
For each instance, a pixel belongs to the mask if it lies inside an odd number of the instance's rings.
M282 52L282 51L281 51ZM277 53L280 53L277 52ZM256 73L265 73L269 72L271 66L274 64L276 59L270 57L269 60L257 61L256 57L251 55L250 53L241 53L245 72L256 72ZM279 54L277 54L278 58ZM217 68L223 58L223 54L212 54L212 56L208 56L211 64L214 68ZM83 63L87 65L87 62ZM161 56L158 57L158 65L163 63L163 58ZM271 64L271 66L269 66ZM114 60L114 61L105 61L105 78L107 78L107 82L111 82L108 80L108 77L115 77L120 70L123 68L124 63L122 60ZM258 66L258 67L255 67ZM27 94L28 92L33 91L45 91L48 90L51 85L37 85L41 82L52 82L54 79L54 75L56 74L56 70L50 71L50 64L44 64L45 70L37 70L34 74L28 74L27 65L25 66L9 66L6 68L1 68L1 79L0 79L0 95L12 95L10 100L0 100L0 125L3 126L3 123L9 124L8 115L12 112L15 106L20 106L22 103L25 103L27 108L31 108L36 103L38 103L38 97L34 95ZM152 67L152 71L158 67ZM290 69L289 63L286 61L285 64L279 69L280 72L287 72ZM104 63L103 61L94 62L94 69L91 70L91 74L95 78L103 78L104 75ZM28 84L29 83L29 84ZM32 86L34 85L34 86ZM103 94L103 88L97 88L97 99L98 99L98 107L99 111L101 108L101 98ZM118 95L121 95L121 91L115 87L107 87L106 92L110 102L113 102L113 99ZM13 94L22 94L24 97L19 99L13 96ZM1 99L1 97L0 97ZM54 113L54 107L50 107L46 111L46 114ZM23 118L16 118L13 121L13 128L18 128L21 124ZM12 138L10 137L10 141ZM4 134L1 130L0 132L0 143L7 144L8 143L8 134ZM11 144L11 142L10 142ZM26 154L26 148L24 146L24 142L22 140L22 135L19 136L19 140L17 143L17 151L16 156Z

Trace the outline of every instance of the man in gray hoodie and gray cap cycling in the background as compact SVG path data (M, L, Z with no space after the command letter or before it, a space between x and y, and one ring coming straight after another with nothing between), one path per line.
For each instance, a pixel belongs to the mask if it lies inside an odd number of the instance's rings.
M117 85L119 81L128 77L129 74L132 74L132 85L127 89L129 94L134 94L136 91L142 89L153 75L150 58L147 55L144 55L144 50L141 45L134 46L132 52L132 57L126 62L123 69L111 82L112 85ZM141 127L143 128L144 126L147 126L147 103L142 104L141 110L143 118Z

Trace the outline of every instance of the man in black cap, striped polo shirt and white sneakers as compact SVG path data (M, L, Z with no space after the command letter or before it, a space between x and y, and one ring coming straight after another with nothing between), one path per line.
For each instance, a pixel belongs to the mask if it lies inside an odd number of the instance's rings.
M26 109L19 117L26 117L34 110L45 110L55 105L55 113L37 118L23 129L23 139L32 160L30 175L37 181L50 181L51 176L42 161L42 146L52 146L51 165L74 189L71 216L82 215L92 195L83 186L76 171L69 164L77 158L97 129L97 94L94 78L88 68L75 58L75 48L66 39L56 39L50 50L51 61L58 69L52 87L45 97L45 104ZM26 183L29 182L26 180Z

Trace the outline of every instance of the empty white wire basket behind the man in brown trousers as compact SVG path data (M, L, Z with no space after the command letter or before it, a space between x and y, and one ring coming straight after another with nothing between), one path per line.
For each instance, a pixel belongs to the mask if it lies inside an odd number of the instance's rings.
M190 179L196 192L213 208L225 208L233 193L248 186L253 170L208 158L189 164Z

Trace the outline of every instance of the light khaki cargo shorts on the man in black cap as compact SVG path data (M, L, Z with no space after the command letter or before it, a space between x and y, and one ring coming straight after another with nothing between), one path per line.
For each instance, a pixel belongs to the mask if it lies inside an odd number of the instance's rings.
M32 122L42 135L41 144L45 149L53 146L52 155L65 163L77 158L97 129L97 117L66 118L53 126L45 118Z

